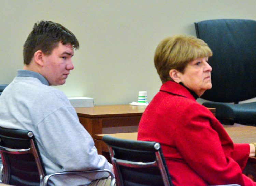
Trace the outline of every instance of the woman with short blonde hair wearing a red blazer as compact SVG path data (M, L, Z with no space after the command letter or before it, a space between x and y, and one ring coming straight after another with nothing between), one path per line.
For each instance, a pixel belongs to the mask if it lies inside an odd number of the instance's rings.
M140 120L138 140L157 141L174 185L256 185L242 174L253 144L234 144L225 129L196 102L211 89L207 44L192 36L161 41L155 67L163 85Z

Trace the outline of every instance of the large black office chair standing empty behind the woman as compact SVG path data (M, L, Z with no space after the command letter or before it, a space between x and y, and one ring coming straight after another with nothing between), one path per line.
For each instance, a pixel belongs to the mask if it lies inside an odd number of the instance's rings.
M213 51L212 89L201 98L216 108L223 124L256 124L256 102L238 104L256 97L256 21L216 19L195 22L197 37ZM235 104L230 104L235 103Z

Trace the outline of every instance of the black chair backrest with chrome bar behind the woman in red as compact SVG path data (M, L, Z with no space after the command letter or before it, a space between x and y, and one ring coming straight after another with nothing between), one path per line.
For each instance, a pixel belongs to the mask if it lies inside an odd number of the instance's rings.
M157 142L133 141L104 135L118 186L172 185Z

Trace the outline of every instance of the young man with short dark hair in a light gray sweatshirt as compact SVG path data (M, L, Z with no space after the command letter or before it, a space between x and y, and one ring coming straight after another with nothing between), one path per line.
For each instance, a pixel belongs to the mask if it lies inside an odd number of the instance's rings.
M98 155L67 97L49 86L65 83L74 69L73 49L78 48L74 34L62 25L51 21L35 24L23 46L23 70L18 70L0 97L0 126L32 131L47 173L112 170L106 158ZM55 177L52 182L87 185L107 176L79 174Z

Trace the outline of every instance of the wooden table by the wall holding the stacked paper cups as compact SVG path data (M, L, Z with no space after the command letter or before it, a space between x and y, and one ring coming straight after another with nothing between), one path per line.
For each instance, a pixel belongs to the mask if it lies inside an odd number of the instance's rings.
M137 132L146 106L109 105L75 108L80 123L94 138L95 134ZM215 114L215 108L209 108Z

